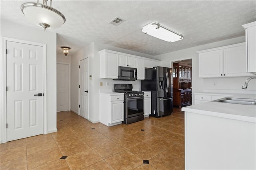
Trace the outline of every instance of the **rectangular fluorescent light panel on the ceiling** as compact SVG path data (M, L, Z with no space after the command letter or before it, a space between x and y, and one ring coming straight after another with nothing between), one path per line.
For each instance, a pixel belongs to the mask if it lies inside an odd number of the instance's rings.
M176 42L183 39L181 34L165 28L156 22L151 22L150 24L142 27L142 32L166 42Z

